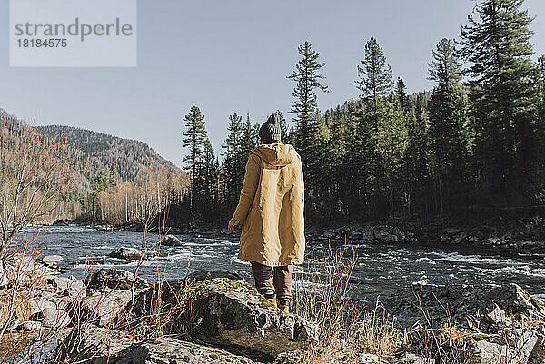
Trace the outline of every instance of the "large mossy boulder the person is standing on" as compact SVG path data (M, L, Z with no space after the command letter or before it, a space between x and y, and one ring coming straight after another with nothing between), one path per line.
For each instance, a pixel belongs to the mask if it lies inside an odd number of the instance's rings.
M278 310L246 281L213 278L193 290L191 335L203 342L274 359L283 351L308 349L316 339L316 325Z

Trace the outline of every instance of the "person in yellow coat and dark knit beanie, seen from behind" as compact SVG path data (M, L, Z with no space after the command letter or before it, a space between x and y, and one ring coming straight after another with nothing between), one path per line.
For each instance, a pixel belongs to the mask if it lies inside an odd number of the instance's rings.
M292 303L293 265L304 255L301 157L281 141L273 113L259 130L261 145L248 157L241 197L227 229L242 224L238 257L252 263L255 286L284 312Z

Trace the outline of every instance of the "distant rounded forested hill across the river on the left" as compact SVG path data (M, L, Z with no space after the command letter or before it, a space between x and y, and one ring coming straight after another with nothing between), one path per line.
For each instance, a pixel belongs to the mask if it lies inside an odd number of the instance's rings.
M96 168L107 167L114 162L124 181L134 182L136 175L144 167L163 167L168 172L181 172L173 162L165 160L144 142L73 126L46 125L35 126L35 129L58 143L77 148L90 160L102 164L96 165Z

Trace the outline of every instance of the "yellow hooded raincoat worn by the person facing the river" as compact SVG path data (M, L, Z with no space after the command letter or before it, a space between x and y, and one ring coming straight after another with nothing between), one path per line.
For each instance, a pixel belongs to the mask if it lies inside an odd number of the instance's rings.
M290 144L263 144L248 157L233 214L242 223L239 259L276 267L304 256L304 183L301 158Z

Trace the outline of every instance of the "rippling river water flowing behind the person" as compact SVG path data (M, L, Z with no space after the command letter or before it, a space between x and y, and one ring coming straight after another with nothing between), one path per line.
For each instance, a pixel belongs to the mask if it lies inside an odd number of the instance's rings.
M238 241L234 236L176 235L183 246L161 247L153 251L159 236L148 233L145 246L152 248L139 272L148 280L154 274L161 280L182 278L186 271L233 271L252 281L250 264L236 258ZM49 226L29 228L25 239L35 239L41 256L61 255L65 273L79 278L92 268L136 269L136 261L122 261L107 254L119 247L141 247L143 234L128 231L97 231L90 227ZM309 241L307 254L321 255L328 248ZM545 299L545 255L501 256L483 251L452 251L400 245L358 245L354 271L363 296L391 292L414 282L460 285L501 285L517 283ZM312 260L307 260L307 262ZM156 273L159 272L159 273Z

